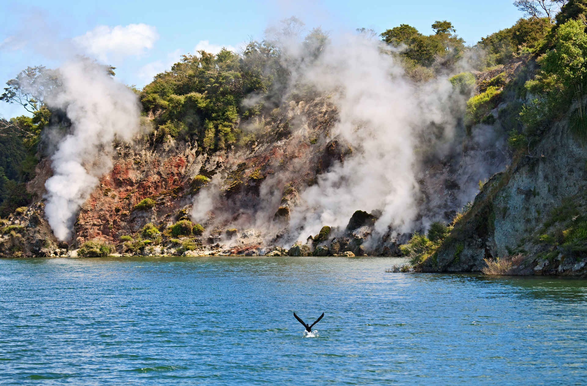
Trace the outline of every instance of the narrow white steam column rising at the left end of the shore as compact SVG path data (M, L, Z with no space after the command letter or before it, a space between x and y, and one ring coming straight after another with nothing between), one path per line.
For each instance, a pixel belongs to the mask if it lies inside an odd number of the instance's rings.
M50 158L45 215L55 236L69 240L77 211L112 167L104 152L114 138L131 140L139 130L140 106L136 94L90 60L65 63L58 74L60 86L45 103L65 111L71 127Z

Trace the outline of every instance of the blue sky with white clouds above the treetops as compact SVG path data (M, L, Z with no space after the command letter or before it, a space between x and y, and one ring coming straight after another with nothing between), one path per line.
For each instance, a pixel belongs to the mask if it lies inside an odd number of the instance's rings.
M26 66L58 67L80 52L117 67L122 82L139 87L184 53L238 48L250 37L262 39L265 28L292 15L308 29L322 26L333 35L361 27L383 32L400 23L432 33L430 25L446 19L468 44L522 16L512 0L4 0L0 14L0 83ZM22 113L0 102L6 118Z

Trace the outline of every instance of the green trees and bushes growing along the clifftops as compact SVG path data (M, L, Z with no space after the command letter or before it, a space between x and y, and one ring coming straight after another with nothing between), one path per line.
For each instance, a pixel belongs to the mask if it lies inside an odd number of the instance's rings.
M541 4L548 9L540 8ZM584 135L587 0L528 0L517 1L516 5L527 13L527 18L481 38L474 46L465 46L451 22L435 21L431 35L407 24L387 29L380 33L385 48L382 51L394 56L416 84L440 75L453 76L451 83L471 97L467 103L468 124L486 118L484 114L497 106L505 94L535 96L532 103L519 103L507 111L512 116L512 150L531 147L548 120L564 114L571 105L575 106L573 130ZM559 12L555 14L553 10ZM203 152L251 145L259 133L245 130L248 124L271 117L272 111L292 94L312 91L303 86L302 80L294 79L296 69L317 60L330 39L319 28L306 36L302 33L303 23L290 18L281 29L268 31L264 40L249 42L241 52L222 49L213 55L198 51L184 55L170 70L156 75L153 82L136 90L144 115L152 120L151 145L171 138L189 141ZM290 52L291 41L298 42L303 52ZM497 76L481 84L473 95L475 80L470 70L492 69L522 56L534 58L537 63L532 80L512 82L504 88ZM111 75L113 70L104 66ZM68 124L62 111L50 111L43 103L43 95L59 87L58 72L42 66L29 67L9 80L7 86L0 100L21 104L30 116L0 119L1 216L29 199L25 183L34 177L36 162L43 156L43 128L66 128Z

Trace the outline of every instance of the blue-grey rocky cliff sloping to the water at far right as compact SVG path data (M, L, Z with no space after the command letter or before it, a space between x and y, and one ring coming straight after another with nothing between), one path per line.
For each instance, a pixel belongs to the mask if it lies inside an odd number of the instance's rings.
M534 154L512 162L477 195L470 212L424 271L585 276L587 149L566 122L552 125ZM516 256L517 258L513 258Z

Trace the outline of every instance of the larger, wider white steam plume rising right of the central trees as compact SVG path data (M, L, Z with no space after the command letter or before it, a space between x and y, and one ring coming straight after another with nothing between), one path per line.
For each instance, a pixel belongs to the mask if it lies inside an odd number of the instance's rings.
M431 122L450 120L444 111L453 89L446 78L416 89L382 49L374 39L349 35L305 73L318 90L336 90L339 121L331 135L351 144L353 154L302 192L307 206L295 211L292 225L304 225L303 235L322 225L345 227L357 209L382 211L380 233L388 226L411 230L418 212L417 134Z

